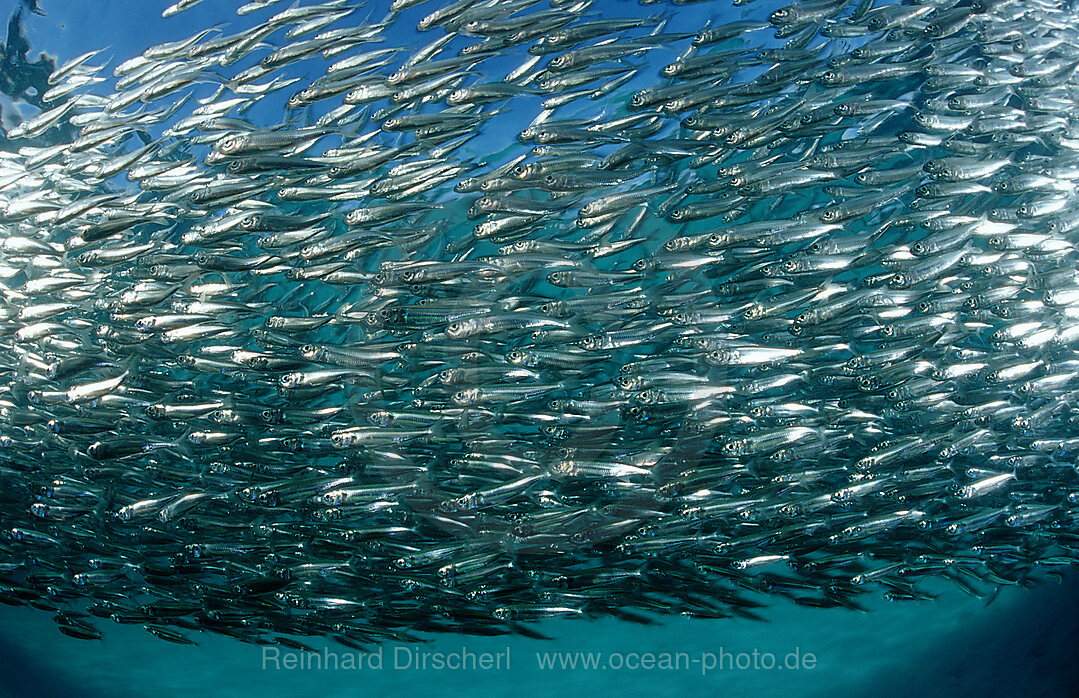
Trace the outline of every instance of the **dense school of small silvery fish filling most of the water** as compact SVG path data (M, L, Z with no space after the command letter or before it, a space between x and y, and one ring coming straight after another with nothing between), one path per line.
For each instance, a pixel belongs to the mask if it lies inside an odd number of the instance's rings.
M0 152L0 601L366 647L1074 564L1074 5L642 4L59 65Z

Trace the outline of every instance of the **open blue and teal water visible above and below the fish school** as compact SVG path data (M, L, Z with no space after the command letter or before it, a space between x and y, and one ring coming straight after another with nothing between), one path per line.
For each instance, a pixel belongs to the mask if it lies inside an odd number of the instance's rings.
M10 16L17 2L0 2ZM58 63L108 46L112 65L145 47L186 38L222 22L250 23L286 6L236 18L231 0L206 0L173 19L162 19L161 0L41 0L46 16L28 16L31 58L44 51ZM377 3L378 4L378 3ZM712 3L720 8L722 3ZM741 16L739 9L679 8L669 29L697 30L711 17ZM770 5L750 5L748 16L766 17ZM602 0L599 14L650 14L654 8ZM427 4L412 11L416 17ZM380 9L372 9L374 18ZM719 14L719 13L723 14ZM400 45L418 46L431 37L407 33L412 22L395 23ZM523 52L521 52L523 53ZM664 56L657 55L655 60ZM642 71L643 72L643 71ZM633 85L631 84L630 87ZM286 91L288 92L288 91ZM29 113L29 112L28 112ZM309 114L316 118L317 114ZM500 115L514 131L519 114ZM279 118L274 114L273 118ZM496 152L506 131L488 129L488 140L469 148ZM139 626L103 624L105 640L83 642L57 632L49 614L0 608L0 695L2 696L1076 696L1074 667L1079 648L1079 581L1033 589L1009 588L986 605L953 587L938 589L932 602L866 601L870 613L815 610L776 602L767 622L745 619L671 618L655 626L616 620L558 621L537 626L554 640L519 637L440 635L422 646L386 645L379 668L286 669L269 662L263 648L227 638L199 634L199 645L158 641ZM312 642L322 649L324 645ZM286 654L284 648L274 648ZM352 651L328 647L339 657ZM508 658L498 669L415 668L415 653L472 654ZM578 653L578 661L605 668L542 669L551 653ZM726 654L724 654L726 653ZM770 655L784 661L796 653L796 668L735 667L742 657ZM401 667L404 657L410 663ZM570 655L562 656L563 659ZM631 668L645 657L683 657L674 669ZM806 661L808 657L812 661ZM723 658L729 666L706 665ZM477 659L478 661L478 659ZM754 660L757 665L762 663ZM765 662L766 663L766 662ZM811 663L812 666L808 666ZM508 665L508 666L506 666ZM617 665L617 666L615 666ZM619 668L620 667L620 668Z

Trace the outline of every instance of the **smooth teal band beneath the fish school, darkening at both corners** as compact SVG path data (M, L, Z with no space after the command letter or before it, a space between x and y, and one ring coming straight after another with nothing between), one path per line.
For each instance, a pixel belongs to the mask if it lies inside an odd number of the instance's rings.
M210 633L196 646L173 645L139 626L99 625L104 641L62 635L49 614L0 608L0 696L127 698L186 696L421 698L454 696L715 696L801 698L1068 698L1079 696L1079 579L1009 588L988 605L955 589L931 602L865 599L870 613L765 608L767 622L671 618L642 627L616 620L533 626L551 641L520 637L440 635L423 645L390 644L381 669L275 669L262 648ZM311 642L322 649L325 643ZM402 647L398 651L397 647ZM408 651L477 656L503 653L502 670L397 669ZM541 670L536 653L812 653L812 669ZM352 652L328 645L329 652ZM284 656L284 655L283 655ZM411 656L411 654L410 654ZM733 661L733 660L732 660Z

